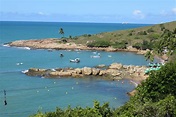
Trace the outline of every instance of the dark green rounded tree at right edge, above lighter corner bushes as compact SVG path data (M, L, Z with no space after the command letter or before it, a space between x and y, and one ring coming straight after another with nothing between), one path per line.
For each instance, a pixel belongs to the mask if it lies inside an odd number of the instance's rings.
M138 87L140 97L153 102L164 99L168 94L176 97L176 61L167 63L158 71L153 71Z

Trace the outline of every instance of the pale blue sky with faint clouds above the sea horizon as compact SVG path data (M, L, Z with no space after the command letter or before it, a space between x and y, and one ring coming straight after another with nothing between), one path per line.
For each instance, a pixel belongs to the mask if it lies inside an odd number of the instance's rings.
M176 21L176 0L0 0L0 21L158 24Z

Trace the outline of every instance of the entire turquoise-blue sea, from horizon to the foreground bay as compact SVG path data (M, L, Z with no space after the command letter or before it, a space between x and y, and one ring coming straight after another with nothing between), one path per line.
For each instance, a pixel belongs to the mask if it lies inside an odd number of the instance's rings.
M93 67L120 62L126 65L147 65L144 57L129 52L102 52L101 58L91 58L93 51L29 50L3 46L14 40L60 37L58 30L64 29L65 36L79 36L107 31L148 26L144 24L104 23L56 23L56 22L0 22L0 117L26 117L38 110L53 111L55 107L68 105L93 106L93 101L109 102L112 108L128 101L126 92L134 85L128 80L105 81L98 78L40 78L22 73L31 67ZM59 54L64 57L60 58ZM111 57L109 57L111 55ZM79 57L78 64L69 59ZM122 83L124 82L124 83ZM7 105L4 105L6 90Z

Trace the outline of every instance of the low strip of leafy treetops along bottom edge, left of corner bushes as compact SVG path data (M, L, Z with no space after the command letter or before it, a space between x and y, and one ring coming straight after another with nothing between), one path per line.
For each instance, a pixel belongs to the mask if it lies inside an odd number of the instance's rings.
M104 103L102 106L98 101L94 101L94 106L92 108L86 107L75 107L70 106L67 109L62 110L56 108L55 112L38 112L30 117L112 117L112 110L109 107L109 103Z

